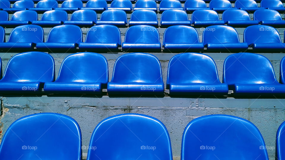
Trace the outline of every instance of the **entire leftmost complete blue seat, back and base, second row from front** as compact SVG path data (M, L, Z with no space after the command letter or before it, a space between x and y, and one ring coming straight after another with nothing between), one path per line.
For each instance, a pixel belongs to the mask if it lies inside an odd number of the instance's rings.
M0 80L0 93L38 94L44 82L54 81L54 77L54 60L51 55L44 52L20 53L9 60Z

